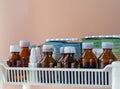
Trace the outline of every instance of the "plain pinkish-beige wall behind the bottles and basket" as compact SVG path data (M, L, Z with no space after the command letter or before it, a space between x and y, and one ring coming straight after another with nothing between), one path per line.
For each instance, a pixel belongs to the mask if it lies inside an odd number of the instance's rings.
M0 59L20 39L39 45L47 38L119 34L119 29L120 0L0 0Z

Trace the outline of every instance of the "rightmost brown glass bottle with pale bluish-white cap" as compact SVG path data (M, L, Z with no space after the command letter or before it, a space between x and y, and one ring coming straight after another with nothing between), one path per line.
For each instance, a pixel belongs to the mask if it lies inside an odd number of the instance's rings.
M112 52L112 42L102 42L103 53L99 56L99 68L104 68L106 65L117 61L117 58Z

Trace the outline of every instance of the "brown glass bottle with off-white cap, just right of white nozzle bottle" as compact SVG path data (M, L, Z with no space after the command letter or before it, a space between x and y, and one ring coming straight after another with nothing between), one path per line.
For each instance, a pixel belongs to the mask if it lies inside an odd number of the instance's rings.
M53 51L53 45L43 45L43 58L38 62L38 67L51 68L56 66L57 62L52 57Z

